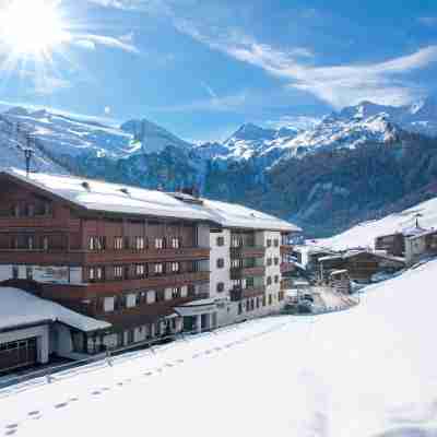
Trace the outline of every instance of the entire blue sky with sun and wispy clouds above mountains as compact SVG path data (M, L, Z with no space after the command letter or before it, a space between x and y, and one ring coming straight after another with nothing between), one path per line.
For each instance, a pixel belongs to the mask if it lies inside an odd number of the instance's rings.
M404 105L436 93L435 0L32 4L0 0L3 107L146 118L210 141L244 122L305 125L362 101Z

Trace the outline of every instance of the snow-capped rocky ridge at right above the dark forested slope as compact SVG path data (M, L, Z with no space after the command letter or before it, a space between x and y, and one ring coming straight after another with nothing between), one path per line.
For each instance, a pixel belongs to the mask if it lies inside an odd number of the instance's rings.
M437 101L427 98L408 106L363 102L302 128L264 129L243 125L223 143L208 143L200 152L213 160L303 157L318 151L355 149L368 142L390 143L400 130L437 135Z

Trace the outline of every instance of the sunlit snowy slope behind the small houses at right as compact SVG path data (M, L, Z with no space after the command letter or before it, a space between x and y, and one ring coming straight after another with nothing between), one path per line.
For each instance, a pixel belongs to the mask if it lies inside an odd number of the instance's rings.
M318 243L333 250L367 246L374 247L375 238L378 236L414 227L417 214L420 214L418 224L421 227L437 227L437 198L420 203L400 213L390 214L381 220L361 223L343 234L321 239Z

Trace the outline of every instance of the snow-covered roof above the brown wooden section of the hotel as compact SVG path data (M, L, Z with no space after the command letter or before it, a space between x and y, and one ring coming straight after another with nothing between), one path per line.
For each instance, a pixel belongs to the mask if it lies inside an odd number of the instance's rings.
M31 173L26 177L25 172L16 168L9 169L5 173L91 211L201 221L212 218L206 211L194 209L163 191L75 176Z

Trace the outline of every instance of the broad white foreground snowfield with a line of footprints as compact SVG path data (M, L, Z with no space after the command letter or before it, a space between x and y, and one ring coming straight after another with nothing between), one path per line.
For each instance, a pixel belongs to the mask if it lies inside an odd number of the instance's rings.
M0 392L0 436L437 436L437 261L350 311L255 320Z

